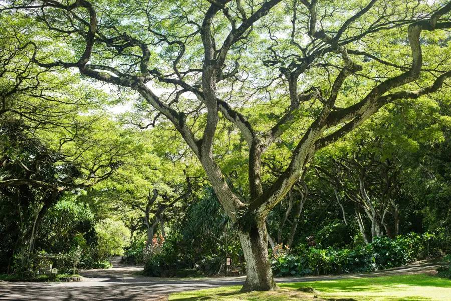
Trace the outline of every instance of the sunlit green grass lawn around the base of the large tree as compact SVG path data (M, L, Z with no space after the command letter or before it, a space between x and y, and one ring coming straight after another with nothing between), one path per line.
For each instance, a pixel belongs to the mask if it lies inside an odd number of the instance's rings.
M451 280L424 274L279 284L272 292L240 293L241 286L225 286L174 293L172 301L282 301L353 298L358 301L451 301ZM317 293L298 291L310 286ZM318 297L314 297L317 295Z

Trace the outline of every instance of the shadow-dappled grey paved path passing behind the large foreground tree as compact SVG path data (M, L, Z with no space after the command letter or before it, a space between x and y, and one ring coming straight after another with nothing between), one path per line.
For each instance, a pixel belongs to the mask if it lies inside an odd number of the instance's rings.
M380 277L405 275L434 270L443 265L442 261L427 261L406 267L388 269L373 273L319 276L303 278L278 278L277 282L304 282L312 280L333 280L346 278ZM245 277L207 278L207 279L167 279L134 275L142 267L115 265L107 270L86 270L80 282L35 283L0 282L0 300L21 301L147 301L165 300L170 293L216 287L223 285L241 285Z

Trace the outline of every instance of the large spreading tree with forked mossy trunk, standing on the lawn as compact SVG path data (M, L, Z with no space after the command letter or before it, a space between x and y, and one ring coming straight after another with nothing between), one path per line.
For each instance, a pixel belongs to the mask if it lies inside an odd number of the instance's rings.
M155 110L149 124L162 116L173 124L238 225L247 262L243 290L277 287L265 219L315 152L385 104L434 93L451 76L447 1L2 6L2 15L22 18L24 30L45 33L23 41L35 64L78 69L87 79L136 91ZM244 149L248 161L246 199L233 193L218 163L219 121L233 124L231 132L246 142L236 153ZM266 186L265 154L287 149L286 169Z

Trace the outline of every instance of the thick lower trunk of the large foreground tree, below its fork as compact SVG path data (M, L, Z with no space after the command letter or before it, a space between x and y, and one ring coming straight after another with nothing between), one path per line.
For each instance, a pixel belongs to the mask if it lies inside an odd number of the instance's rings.
M242 291L277 289L268 258L268 233L266 222L260 221L249 233L239 231L241 247L246 259L246 282Z

